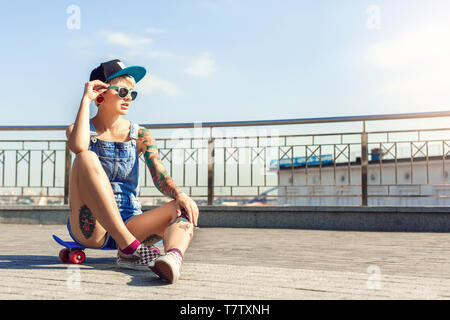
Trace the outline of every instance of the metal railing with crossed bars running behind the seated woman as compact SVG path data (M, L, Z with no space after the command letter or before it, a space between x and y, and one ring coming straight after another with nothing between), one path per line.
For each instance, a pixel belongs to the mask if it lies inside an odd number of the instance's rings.
M156 138L158 130L199 130L198 136L185 137L180 133L180 137L174 137L172 134L171 137L159 137L157 143L169 174L200 204L232 200L244 204L311 204L311 199L319 199L322 202L313 204L320 205L329 204L330 199L350 198L350 204L367 206L370 199L375 201L377 198L450 199L450 178L446 171L447 160L450 160L450 128L366 129L369 123L382 121L445 117L450 117L450 111L141 126L152 129ZM332 123L361 127L343 132L324 130ZM240 134L220 132L221 128L237 130L290 125L299 125L303 131L302 126L311 124L324 128L319 133L307 134L279 134L279 129L270 134L255 134L255 130L244 130ZM65 129L66 126L0 127L3 132ZM3 192L0 199L53 196L67 204L73 160L74 154L65 140L1 139L0 190ZM161 200L142 155L139 161L138 196ZM7 183L7 175L11 176L12 172L14 177ZM7 194L4 191L8 188L19 192ZM40 188L40 194L27 194L26 190L32 188ZM300 199L306 199L306 202ZM375 202L370 205L376 205ZM342 201L337 203L342 204Z

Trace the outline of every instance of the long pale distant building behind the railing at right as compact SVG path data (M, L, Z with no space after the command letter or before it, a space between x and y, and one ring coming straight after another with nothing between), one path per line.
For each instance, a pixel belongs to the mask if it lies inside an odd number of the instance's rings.
M361 205L360 159L333 163L329 156L322 163L311 159L308 166L304 159L295 158L280 165L271 163L271 170L279 170L279 203ZM450 159L432 156L395 160L372 154L367 171L369 205L450 205L450 198L445 198L450 196Z

